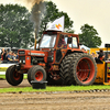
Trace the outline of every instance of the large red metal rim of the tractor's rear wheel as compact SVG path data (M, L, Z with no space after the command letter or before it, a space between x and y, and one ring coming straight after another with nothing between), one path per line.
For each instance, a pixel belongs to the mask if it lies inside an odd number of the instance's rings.
M77 77L82 84L88 84L95 76L95 66L90 58L81 58L77 64Z

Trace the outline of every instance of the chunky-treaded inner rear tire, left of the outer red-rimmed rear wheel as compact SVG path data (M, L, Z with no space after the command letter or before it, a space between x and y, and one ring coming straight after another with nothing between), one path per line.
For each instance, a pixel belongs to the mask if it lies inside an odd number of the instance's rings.
M70 73L70 63L73 61L73 57L75 56L75 54L69 54L67 55L62 64L61 64L61 76L62 76L62 79L63 79L63 85L66 85L66 86L70 86L74 84L74 80L73 80L73 74Z

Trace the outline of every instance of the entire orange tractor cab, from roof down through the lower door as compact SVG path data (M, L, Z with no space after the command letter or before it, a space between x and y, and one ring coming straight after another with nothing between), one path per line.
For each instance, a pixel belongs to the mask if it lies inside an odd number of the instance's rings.
M80 51L78 35L56 31L45 31L38 50L48 52L47 63L61 63L68 52Z

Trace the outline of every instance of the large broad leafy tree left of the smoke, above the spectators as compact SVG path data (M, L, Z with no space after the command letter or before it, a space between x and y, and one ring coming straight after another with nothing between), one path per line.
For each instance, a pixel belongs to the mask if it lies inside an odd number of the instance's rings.
M0 4L0 46L24 47L33 45L33 23L25 7Z

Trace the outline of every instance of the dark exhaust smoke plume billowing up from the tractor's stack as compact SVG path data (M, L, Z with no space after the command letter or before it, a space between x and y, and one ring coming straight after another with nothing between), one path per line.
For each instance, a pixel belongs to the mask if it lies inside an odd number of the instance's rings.
M44 1L47 0L15 0L15 1L24 3L29 10L31 9L31 21L34 23L34 31L36 30L36 35L37 35L40 24L43 19L43 13L45 10Z

